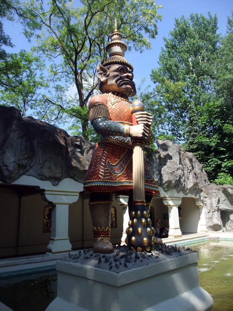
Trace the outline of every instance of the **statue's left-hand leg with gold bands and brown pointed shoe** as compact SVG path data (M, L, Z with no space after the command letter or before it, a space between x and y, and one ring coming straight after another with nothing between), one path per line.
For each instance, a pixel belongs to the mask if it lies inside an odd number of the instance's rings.
M90 193L89 207L93 224L93 253L113 253L110 243L112 193Z

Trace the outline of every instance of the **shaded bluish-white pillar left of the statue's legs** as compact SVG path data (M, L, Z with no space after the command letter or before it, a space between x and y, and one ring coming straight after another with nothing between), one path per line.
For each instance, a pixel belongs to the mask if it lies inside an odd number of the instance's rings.
M69 205L76 202L79 192L62 190L45 190L42 198L53 203L51 220L51 238L47 246L47 254L71 252L68 237Z

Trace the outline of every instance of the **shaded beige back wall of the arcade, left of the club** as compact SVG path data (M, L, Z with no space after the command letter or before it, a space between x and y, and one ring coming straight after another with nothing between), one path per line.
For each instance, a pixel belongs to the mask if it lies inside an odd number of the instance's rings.
M22 188L0 187L0 257L47 252L51 233L43 232L43 210L48 203L40 194L21 198ZM88 197L80 193L79 199L69 206L68 236L73 249L93 246L88 202ZM123 231L122 207L115 199L112 205L117 209L117 228L111 229L111 242L119 244Z

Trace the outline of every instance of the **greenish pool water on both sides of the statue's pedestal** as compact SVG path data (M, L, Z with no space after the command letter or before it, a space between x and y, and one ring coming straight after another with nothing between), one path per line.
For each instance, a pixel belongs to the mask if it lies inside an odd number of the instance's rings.
M214 300L211 311L233 311L233 240L188 246L199 252L200 284ZM56 296L54 271L0 281L0 301L14 311L45 311Z

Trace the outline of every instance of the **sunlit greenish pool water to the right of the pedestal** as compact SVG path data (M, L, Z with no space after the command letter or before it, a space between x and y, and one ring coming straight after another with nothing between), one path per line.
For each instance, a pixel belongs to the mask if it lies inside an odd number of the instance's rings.
M213 298L211 311L232 311L233 240L195 244L192 249L199 252L200 284Z

